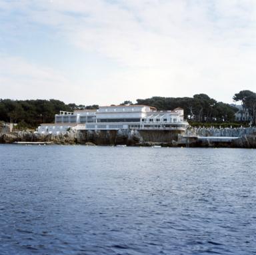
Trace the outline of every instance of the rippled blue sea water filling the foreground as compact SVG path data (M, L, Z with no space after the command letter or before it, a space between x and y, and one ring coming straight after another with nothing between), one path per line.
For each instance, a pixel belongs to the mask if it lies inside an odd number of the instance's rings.
M256 150L0 145L0 254L256 254Z

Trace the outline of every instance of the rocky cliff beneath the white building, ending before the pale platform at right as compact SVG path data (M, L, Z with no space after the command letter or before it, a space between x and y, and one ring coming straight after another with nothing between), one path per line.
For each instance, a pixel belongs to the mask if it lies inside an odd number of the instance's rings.
M149 142L171 144L180 132L167 130L71 130L67 134L41 134L37 132L13 132L0 135L0 142L54 142L55 144L127 144L150 145Z

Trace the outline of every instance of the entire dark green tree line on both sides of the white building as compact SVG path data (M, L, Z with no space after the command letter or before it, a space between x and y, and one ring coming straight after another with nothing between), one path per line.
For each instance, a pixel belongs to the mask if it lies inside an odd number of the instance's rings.
M256 125L256 94L252 91L240 91L233 97L242 105L241 115L249 113L248 121ZM151 97L137 99L136 103L125 101L121 105L149 105L159 111L184 109L185 119L191 123L233 123L236 107L223 102L217 102L205 94L193 97ZM53 123L55 114L59 111L75 111L79 109L98 109L99 105L65 104L62 101L50 100L11 100L0 99L0 121L19 123L24 127L37 127L40 123Z

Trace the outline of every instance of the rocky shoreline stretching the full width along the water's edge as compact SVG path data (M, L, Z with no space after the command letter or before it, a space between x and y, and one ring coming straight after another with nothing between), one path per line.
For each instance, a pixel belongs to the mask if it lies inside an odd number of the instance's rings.
M232 142L184 141L184 136L239 137ZM87 144L127 146L188 146L256 148L256 128L190 128L185 133L173 130L70 130L65 134L41 134L19 131L0 133L0 143L53 142L53 144Z

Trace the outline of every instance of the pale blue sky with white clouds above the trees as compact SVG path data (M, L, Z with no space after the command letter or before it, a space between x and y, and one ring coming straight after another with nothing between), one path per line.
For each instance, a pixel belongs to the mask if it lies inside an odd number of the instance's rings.
M256 91L255 0L0 0L0 98Z

